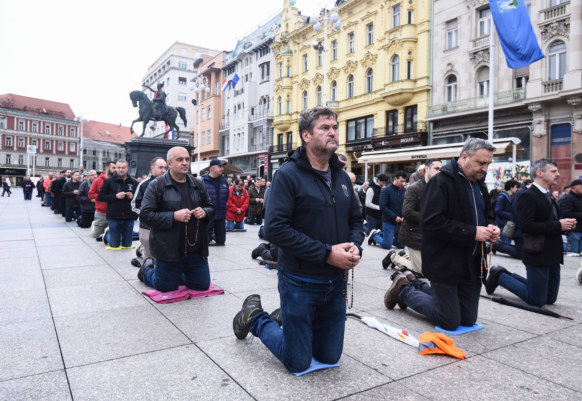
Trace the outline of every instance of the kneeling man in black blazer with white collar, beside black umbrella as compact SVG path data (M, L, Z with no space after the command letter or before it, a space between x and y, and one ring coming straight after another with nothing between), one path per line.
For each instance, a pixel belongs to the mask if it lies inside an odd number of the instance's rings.
M560 264L564 263L562 232L576 229L576 219L560 220L558 203L549 192L560 176L558 164L552 159L539 159L531 165L531 172L534 182L517 200L517 220L524 234L521 260L527 279L494 266L485 289L491 294L501 285L530 305L544 306L558 299ZM541 250L534 249L535 243Z

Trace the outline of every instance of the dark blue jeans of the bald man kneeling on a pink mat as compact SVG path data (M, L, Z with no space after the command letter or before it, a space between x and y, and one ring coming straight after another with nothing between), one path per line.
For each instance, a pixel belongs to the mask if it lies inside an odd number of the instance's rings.
M145 269L144 284L161 292L177 290L180 285L197 291L207 290L210 288L210 268L202 252L180 253L174 262L157 259L155 269Z

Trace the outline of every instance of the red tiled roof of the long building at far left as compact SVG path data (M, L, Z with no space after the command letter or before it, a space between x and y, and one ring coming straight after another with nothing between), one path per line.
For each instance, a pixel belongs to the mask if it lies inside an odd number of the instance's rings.
M66 103L15 95L12 93L0 95L0 108L13 109L14 111L22 113L61 118L65 120L74 119L74 113Z

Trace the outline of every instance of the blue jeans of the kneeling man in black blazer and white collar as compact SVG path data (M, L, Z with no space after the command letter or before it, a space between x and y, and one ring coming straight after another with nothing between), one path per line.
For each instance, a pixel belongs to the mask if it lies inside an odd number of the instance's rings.
M560 265L539 267L526 265L527 279L519 274L502 273L498 283L533 306L553 304L560 289Z

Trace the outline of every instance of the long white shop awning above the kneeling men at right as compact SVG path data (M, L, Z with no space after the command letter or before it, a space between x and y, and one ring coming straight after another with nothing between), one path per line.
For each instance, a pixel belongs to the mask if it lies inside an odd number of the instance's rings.
M504 154L509 147L521 143L516 137L494 139L494 154ZM360 164L379 164L390 162L402 162L411 160L426 160L434 157L441 159L452 159L458 157L463 148L463 143L442 144L433 146L418 146L413 148L398 148L377 151L362 152L358 158Z

